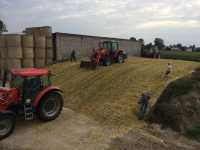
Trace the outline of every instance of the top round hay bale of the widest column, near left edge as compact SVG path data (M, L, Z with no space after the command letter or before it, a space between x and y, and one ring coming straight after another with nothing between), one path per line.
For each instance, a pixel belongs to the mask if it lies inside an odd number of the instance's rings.
M5 37L7 47L21 47L21 35L8 34Z

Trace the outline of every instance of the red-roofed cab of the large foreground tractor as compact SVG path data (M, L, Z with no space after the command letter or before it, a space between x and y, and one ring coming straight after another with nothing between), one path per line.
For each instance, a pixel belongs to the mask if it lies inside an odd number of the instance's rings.
M38 92L51 85L50 74L46 69L12 69L10 88L16 88L19 101L35 99Z

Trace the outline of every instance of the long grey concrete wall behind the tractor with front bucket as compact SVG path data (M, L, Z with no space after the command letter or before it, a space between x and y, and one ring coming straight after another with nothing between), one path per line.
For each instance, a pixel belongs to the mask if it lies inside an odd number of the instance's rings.
M140 56L141 43L127 39L96 37L87 35L75 35L67 33L54 33L53 45L55 60L62 61L69 59L71 51L76 51L77 58L90 57L92 50L98 48L99 42L106 40L119 41L120 49L126 50L129 56Z

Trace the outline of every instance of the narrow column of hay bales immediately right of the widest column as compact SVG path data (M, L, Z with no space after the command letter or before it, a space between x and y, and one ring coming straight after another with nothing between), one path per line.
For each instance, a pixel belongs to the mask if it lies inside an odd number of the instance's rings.
M22 35L23 59L22 67L34 67L34 42L33 35Z

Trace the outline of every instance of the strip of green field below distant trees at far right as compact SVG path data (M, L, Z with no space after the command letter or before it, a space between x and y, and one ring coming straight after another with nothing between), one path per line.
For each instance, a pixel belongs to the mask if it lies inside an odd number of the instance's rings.
M161 51L161 58L200 61L200 52Z

